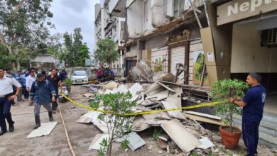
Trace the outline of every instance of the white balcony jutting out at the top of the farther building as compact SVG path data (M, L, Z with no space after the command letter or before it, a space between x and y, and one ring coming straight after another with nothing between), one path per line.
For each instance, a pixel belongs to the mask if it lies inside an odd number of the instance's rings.
M108 3L109 13L111 16L125 18L126 0L110 0Z

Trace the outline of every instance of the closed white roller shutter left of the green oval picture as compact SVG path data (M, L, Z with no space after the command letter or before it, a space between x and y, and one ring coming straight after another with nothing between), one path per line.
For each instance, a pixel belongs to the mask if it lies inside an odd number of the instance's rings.
M170 52L170 72L176 74L176 64L185 64L185 47L172 48ZM183 79L184 73L180 74L178 79Z

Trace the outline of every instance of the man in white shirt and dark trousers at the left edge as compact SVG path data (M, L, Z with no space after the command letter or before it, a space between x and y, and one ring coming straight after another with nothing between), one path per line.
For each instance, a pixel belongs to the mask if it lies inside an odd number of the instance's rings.
M13 94L13 85L16 86L16 94ZM11 104L13 100L18 96L21 90L21 84L14 78L4 76L4 68L0 67L0 135L7 132L6 120L9 123L9 131L14 130L13 120L11 118Z

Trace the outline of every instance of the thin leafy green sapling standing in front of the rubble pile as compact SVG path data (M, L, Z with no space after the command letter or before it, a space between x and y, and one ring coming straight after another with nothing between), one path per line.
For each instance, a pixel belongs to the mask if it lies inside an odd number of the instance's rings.
M101 149L98 151L99 155L112 155L112 143L114 140L124 138L121 142L121 147L124 149L127 147L129 140L127 140L126 134L131 132L132 121L134 117L124 116L124 113L132 113L131 108L136 106L135 101L131 101L131 93L116 93L116 94L97 94L94 96L94 100L90 106L93 108L99 108L102 104L104 111L109 113L100 113L98 118L100 121L104 121L109 131L109 138L102 140Z

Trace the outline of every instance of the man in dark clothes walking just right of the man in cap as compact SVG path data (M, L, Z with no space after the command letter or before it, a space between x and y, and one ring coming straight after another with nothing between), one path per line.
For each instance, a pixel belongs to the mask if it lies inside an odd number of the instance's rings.
M60 86L60 90L63 91L63 82L60 79L60 77L57 75L57 72L58 72L57 69L51 69L51 74L47 77L47 79L52 83L57 94L55 96L55 102L52 102L53 113L56 113L56 110L58 107L57 97L58 97L59 86Z

